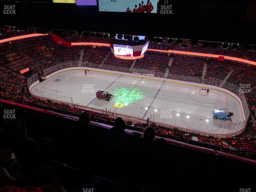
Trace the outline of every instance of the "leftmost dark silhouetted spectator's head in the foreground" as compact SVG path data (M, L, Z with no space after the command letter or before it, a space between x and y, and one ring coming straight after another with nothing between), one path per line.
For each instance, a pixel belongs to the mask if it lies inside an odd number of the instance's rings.
M26 120L16 117L3 122L4 133L10 137L23 137L26 134Z

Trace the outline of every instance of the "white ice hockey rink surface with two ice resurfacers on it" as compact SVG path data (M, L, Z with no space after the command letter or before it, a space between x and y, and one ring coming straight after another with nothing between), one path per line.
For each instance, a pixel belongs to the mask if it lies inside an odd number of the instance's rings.
M98 100L98 90L113 94L110 101ZM242 130L242 108L230 94L212 90L199 94L199 87L154 79L84 70L58 73L34 88L43 98L74 103L118 114L147 119L208 134L232 134ZM214 109L233 112L232 121L214 120Z

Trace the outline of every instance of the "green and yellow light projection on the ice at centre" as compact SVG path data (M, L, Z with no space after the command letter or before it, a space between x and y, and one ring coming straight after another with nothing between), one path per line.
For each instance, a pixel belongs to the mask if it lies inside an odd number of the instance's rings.
M128 104L132 104L138 100L141 100L144 97L146 97L146 94L143 91L139 91L137 89L133 89L133 90L129 90L126 88L115 89L114 106L117 108L121 108L121 107L127 106Z

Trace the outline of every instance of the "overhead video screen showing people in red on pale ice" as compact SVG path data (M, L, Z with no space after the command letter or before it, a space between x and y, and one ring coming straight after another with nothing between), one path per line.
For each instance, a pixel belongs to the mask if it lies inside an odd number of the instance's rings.
M99 0L104 12L156 13L159 0Z

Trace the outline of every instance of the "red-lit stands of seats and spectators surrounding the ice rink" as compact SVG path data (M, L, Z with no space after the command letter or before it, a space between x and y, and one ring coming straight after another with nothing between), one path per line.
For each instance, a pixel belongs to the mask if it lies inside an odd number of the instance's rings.
M80 37L72 37L72 39L80 39ZM100 37L87 37L82 39L100 39ZM33 43L32 43L33 42ZM33 46L36 43L36 46ZM32 41L29 40L19 40L16 43L18 48L24 50L26 54L35 58L42 64L48 67L52 64L56 63L55 59L58 59L60 62L69 61L69 60L78 60L80 54L80 47L76 48L65 48L62 45L56 44L51 40L50 37L44 37L40 40L36 38L32 38ZM168 44L163 43L163 46L167 46ZM48 106L51 108L58 108L61 110L66 110L69 112L80 113L81 111L78 109L71 108L69 105L64 103L52 102L50 100L41 100L39 98L33 97L30 95L27 88L27 79L19 74L15 74L21 69L25 67L34 68L36 71L40 70L42 66L38 65L34 62L29 56L22 54L19 52L18 48L12 43L3 43L0 44L0 56L3 58L0 60L0 96L9 101L18 102L22 104L36 104L38 106ZM159 44L151 44L152 48L157 48ZM154 47L156 46L156 47ZM108 53L108 49L104 47L91 47L85 46L83 47L84 52L84 60L93 63L102 62L103 58ZM207 52L206 49L196 46L188 46L186 48L177 48L176 46L172 47L177 50L190 50L197 49L198 52ZM220 48L213 49L214 54L229 54L232 56L241 56L241 51L232 51L232 50L220 50ZM223 52L224 51L224 52ZM252 58L253 52L249 52L248 54L243 54L244 56L250 56ZM169 56L167 54L162 54L157 56L154 52L149 52L145 54L145 57L141 60L137 60L134 67L140 67L142 69L154 70L156 72L161 72L164 74L166 66L168 65ZM130 60L120 60L113 55L109 55L106 61L103 64L104 67L112 67L112 69L118 70L118 67L129 68L132 64ZM204 66L204 61L197 60L193 58L174 58L172 62L172 66L170 67L170 72L168 78L177 78L178 80L188 80L187 77L200 79L202 77L202 70ZM220 62L212 59L208 64L207 78L220 78L223 79L226 74L232 68L232 64L229 62ZM13 71L14 72L13 72ZM222 71L220 73L220 71ZM180 79L181 76L186 76L184 79ZM230 80L237 84L238 86L242 84L250 84L252 88L255 87L256 82L256 69L254 66L246 66L242 63L236 63L234 65L234 72L230 76ZM193 81L190 79L190 81ZM255 90L252 89L251 92L246 93L246 99L250 106L250 112L253 118L255 116ZM109 118L108 116L103 116L99 114L90 114L91 119L102 119L106 124L112 124L114 119ZM132 122L126 122L126 124L132 124ZM145 128L147 124L140 124L140 122L134 124L135 127ZM192 134L188 132L182 132L176 129L167 129L160 126L152 126L156 130L156 135L170 138L169 136L178 136L180 139L192 139ZM225 141L228 144L239 150L246 151L254 151L255 150L255 125L251 124L249 135L243 135L239 137L225 138ZM228 148L229 146L222 143L220 138L214 137L206 137L199 136L199 142L204 142L207 144L212 144L215 146L220 146L223 148Z

